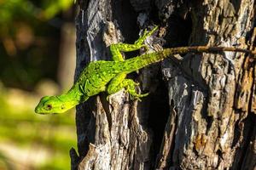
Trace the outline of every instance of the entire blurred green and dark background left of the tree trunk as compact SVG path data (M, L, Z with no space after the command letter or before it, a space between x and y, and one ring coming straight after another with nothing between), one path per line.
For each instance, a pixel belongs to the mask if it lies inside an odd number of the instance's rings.
M74 111L37 115L73 84L73 0L0 0L0 170L70 169Z

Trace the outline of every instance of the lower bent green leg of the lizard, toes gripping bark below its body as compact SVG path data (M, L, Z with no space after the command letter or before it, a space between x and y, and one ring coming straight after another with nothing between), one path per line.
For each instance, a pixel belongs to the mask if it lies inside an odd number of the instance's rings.
M131 95L131 98L139 99L148 95L137 94L135 87L138 86L139 83L134 82L131 79L126 79L125 77L125 73L120 73L116 77L113 77L113 79L111 80L111 82L109 82L109 85L107 87L107 92L109 95L117 93L122 88L125 88L126 92L128 92Z

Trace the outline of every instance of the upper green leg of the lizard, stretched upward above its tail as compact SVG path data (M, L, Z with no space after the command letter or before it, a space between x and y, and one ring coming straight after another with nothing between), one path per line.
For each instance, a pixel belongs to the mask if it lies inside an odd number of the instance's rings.
M128 43L116 43L110 45L110 52L113 56L114 61L124 61L124 58L121 54L121 51L123 52L129 52L129 51L135 51L139 48L148 48L143 42L145 39L153 34L153 32L157 29L157 26L154 27L151 31L144 31L143 36L139 37L134 44L128 44Z

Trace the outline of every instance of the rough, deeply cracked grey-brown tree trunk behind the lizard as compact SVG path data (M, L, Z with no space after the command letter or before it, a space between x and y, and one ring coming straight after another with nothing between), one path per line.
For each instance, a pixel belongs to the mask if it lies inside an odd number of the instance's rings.
M90 61L111 60L110 44L133 43L153 23L160 26L147 40L153 48L252 48L254 8L253 0L80 0L76 77ZM253 58L230 52L178 57L179 63L170 56L129 76L142 93L149 91L142 102L122 90L109 102L102 93L77 107L73 169L255 168Z

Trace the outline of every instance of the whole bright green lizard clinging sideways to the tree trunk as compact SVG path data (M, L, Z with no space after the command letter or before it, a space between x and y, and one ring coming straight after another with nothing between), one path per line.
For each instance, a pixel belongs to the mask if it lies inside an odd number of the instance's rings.
M139 48L147 48L143 44L144 40L149 37L157 27L152 31L144 31L143 36L134 44L117 43L110 46L113 61L98 60L90 62L79 76L79 80L74 83L73 87L66 93L56 96L45 96L37 105L35 112L39 114L62 113L73 108L75 105L83 103L90 96L107 91L107 93L115 94L122 88L126 89L132 97L139 99L148 94L137 94L137 82L125 78L132 71L137 71L147 65L159 62L173 54L185 54L189 52L218 52L218 51L234 51L248 54L256 54L247 49L242 48L225 48L225 47L180 47L166 48L159 52L151 54L142 54L135 58L124 59L122 52L134 51Z

